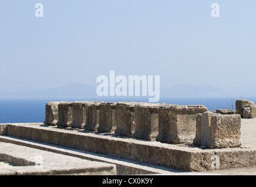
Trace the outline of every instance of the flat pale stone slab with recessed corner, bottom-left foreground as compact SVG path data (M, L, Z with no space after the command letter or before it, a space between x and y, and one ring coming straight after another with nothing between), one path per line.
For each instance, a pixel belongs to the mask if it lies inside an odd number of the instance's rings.
M15 175L116 175L113 164L89 161L11 143L1 144L0 160L14 164L12 167L4 168L15 172ZM9 175L9 172L2 174Z

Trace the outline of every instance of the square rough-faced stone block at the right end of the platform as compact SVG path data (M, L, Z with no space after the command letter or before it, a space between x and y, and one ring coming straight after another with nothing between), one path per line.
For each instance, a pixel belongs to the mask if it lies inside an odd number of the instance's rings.
M240 147L241 141L240 115L213 115L210 124L210 140L208 147L225 148Z

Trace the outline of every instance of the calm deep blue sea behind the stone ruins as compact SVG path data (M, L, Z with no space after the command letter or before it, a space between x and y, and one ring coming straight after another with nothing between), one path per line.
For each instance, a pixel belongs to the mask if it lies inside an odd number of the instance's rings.
M159 102L178 105L204 105L208 110L235 109L235 102L233 101L232 106L231 99L240 98L161 98ZM244 99L256 102L256 97ZM148 102L148 99L2 99L0 100L0 123L42 123L45 120L45 105L50 101Z

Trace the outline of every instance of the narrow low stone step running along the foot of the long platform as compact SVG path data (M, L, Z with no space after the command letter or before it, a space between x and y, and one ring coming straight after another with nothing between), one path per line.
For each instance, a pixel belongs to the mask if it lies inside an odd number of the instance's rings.
M70 155L72 157L83 158L90 161L99 161L99 162L114 164L116 165L117 175L184 174L184 171L181 171L178 169L161 167L161 166L152 165L152 164L145 164L143 162L131 161L123 158L116 158L116 157L111 157L107 155L92 153L89 151L82 151L82 150L77 150L77 149L63 147L63 146L56 146L48 143L41 143L39 141L26 140L18 137L0 136L0 143L1 141L5 143L17 144L20 146L36 148L39 150L50 151L53 153ZM189 174L191 174L191 172L189 172ZM191 174L191 175L196 175L196 174Z

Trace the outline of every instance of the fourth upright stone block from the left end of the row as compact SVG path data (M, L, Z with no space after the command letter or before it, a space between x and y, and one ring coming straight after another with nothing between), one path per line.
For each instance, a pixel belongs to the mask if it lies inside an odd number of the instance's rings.
M102 104L101 101L92 101L88 103L88 110L86 115L86 123L84 129L86 130L97 130L100 123L100 112L99 105Z

